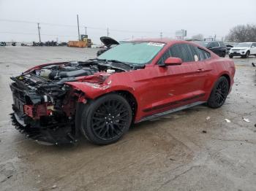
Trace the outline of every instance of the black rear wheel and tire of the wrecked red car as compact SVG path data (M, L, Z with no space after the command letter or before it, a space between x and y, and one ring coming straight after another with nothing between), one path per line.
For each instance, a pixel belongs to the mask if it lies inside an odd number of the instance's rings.
M220 77L215 82L214 88L211 90L211 95L208 98L207 104L211 108L221 107L227 98L229 91L229 83L226 77Z

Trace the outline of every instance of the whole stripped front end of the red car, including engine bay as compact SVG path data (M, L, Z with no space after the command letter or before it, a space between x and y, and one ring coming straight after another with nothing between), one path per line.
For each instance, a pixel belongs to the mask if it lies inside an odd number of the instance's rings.
M97 59L53 63L32 68L18 77L11 77L14 81L10 85L14 101L13 118L17 124L33 130L50 129L56 132L59 128L69 126L67 140L72 142L75 140L72 138L75 134L75 112L78 103L83 102L84 93L65 82L85 82L86 79L83 77L94 77L94 74L97 74L102 79L97 82L100 84L110 74L131 69L132 67L125 63ZM64 136L61 139L64 139ZM61 141L54 139L52 142L57 144Z

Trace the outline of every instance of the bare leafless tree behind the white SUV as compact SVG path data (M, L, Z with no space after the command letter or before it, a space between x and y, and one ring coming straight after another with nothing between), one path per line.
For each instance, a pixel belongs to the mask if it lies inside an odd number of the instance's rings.
M230 29L230 33L225 39L227 39L229 42L256 42L256 26L235 26Z

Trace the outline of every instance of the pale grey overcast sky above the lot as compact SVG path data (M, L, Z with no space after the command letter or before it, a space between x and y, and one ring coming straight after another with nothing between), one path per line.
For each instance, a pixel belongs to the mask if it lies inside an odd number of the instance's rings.
M42 41L78 39L84 26L93 42L100 36L121 39L162 36L174 38L175 31L187 30L187 36L227 35L238 24L256 24L255 0L0 0L0 42L38 40L41 23ZM23 20L32 23L15 23ZM34 23L33 23L34 22ZM53 25L50 25L53 23ZM66 26L57 26L66 25ZM17 34L16 34L17 33Z

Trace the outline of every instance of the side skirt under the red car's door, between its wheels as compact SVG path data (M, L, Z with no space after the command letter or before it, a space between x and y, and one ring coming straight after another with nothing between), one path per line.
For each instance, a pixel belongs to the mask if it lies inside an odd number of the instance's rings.
M206 103L206 101L197 101L197 102L195 102L195 103L188 104L188 105L186 105L186 106L180 106L180 107L177 107L177 108L175 108L175 109L167 110L167 111L165 111L165 112L160 112L160 113L158 113L158 114L153 114L153 115L150 115L150 116L148 116L148 117L143 117L143 118L142 118L141 120L139 120L138 122L143 122L143 121L146 121L146 120L152 120L152 119L154 119L154 118L156 118L156 117L161 117L161 116L163 116L163 115L165 115L165 114L171 114L171 113L173 113L173 112L178 112L178 111L180 111L180 110L187 109L187 108L192 107L192 106L197 106L197 105L200 105L200 104L203 104L203 103ZM138 123L138 122L135 122L135 123Z

